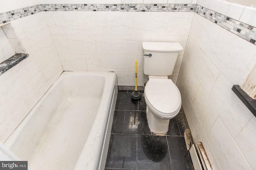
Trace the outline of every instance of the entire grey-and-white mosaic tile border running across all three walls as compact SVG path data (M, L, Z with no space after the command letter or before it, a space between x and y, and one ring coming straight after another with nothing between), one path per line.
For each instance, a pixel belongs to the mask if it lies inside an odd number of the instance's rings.
M0 13L0 24L44 11L196 12L200 16L256 45L256 27L197 4L38 4Z

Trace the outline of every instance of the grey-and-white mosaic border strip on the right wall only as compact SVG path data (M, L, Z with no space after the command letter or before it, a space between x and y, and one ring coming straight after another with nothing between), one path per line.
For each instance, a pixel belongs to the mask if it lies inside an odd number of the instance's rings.
M197 5L196 13L256 45L256 28Z

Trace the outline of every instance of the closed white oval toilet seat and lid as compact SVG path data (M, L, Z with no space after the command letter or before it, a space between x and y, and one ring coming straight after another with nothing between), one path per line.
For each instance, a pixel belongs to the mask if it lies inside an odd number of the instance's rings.
M148 108L160 118L171 119L180 111L180 91L170 79L150 78L144 97Z

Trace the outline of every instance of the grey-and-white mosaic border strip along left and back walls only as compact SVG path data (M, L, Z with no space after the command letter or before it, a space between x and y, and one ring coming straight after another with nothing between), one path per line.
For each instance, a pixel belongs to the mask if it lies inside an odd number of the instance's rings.
M196 4L38 4L0 13L0 24L42 11L195 12Z

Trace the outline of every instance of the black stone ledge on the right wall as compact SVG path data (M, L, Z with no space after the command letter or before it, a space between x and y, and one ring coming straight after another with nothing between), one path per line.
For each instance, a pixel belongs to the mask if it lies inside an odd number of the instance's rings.
M251 98L246 92L244 92L244 90L242 90L239 85L234 85L232 87L232 91L256 117L256 100Z

